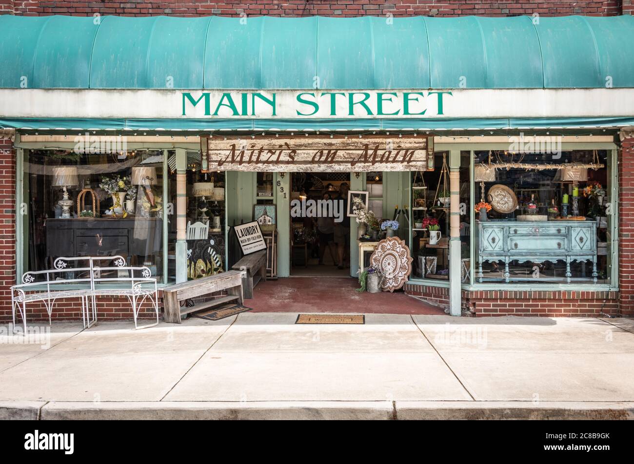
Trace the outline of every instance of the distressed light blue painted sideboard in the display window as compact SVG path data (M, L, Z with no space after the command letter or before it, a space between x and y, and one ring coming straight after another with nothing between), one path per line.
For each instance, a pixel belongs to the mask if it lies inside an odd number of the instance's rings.
M508 263L566 261L566 281L573 274L570 263L592 261L597 281L597 222L595 221L508 221L479 222L478 278L482 262L504 261L504 279L509 281Z

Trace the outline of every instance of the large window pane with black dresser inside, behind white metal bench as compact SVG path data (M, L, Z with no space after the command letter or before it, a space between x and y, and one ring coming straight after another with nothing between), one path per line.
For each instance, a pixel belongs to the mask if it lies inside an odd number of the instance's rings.
M122 255L162 278L161 150L30 150L24 169L26 269L49 269L61 256Z

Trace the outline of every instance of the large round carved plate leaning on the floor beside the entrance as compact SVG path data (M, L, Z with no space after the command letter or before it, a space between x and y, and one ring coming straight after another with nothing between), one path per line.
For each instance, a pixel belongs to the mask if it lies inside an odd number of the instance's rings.
M410 248L398 237L387 237L377 243L370 256L370 266L383 275L382 290L394 292L403 287L411 274Z

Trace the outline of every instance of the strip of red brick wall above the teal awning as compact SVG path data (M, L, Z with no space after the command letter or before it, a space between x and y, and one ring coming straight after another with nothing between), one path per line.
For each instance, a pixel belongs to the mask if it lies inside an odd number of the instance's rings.
M0 0L13 5L13 14L77 15L93 13L120 16L363 16L363 15L430 15L430 16L514 16L539 13L543 16L593 15L614 16L633 13L631 0L533 0L487 2L479 0L255 0L219 2L205 0L162 2L146 1L22 1ZM627 5L627 7L626 7Z

